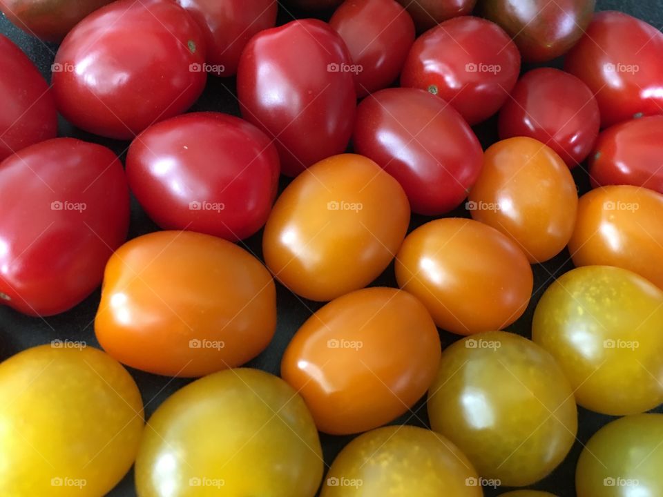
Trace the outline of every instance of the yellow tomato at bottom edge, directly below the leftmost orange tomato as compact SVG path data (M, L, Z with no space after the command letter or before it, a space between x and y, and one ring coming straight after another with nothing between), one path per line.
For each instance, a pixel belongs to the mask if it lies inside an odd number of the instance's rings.
M257 369L188 384L148 422L136 460L140 497L313 497L323 456L289 385Z

